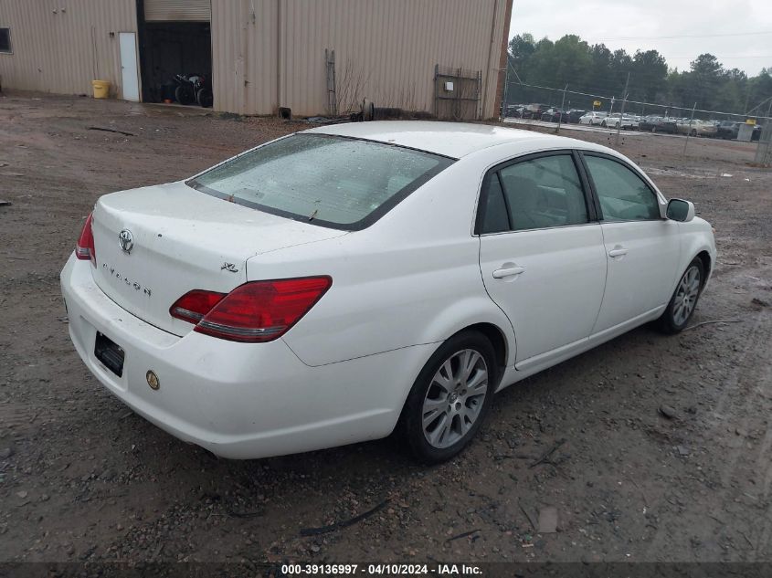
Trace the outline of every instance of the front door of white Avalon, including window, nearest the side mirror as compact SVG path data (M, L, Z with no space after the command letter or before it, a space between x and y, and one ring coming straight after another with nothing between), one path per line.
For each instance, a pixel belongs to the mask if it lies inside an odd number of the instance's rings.
M596 333L670 300L681 247L678 223L661 218L658 195L636 170L602 153L582 156L598 198L608 259Z

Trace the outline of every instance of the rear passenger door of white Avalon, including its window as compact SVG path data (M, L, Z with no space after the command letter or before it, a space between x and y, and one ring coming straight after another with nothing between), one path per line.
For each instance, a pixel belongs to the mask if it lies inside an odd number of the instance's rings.
M598 316L606 256L577 162L570 151L539 153L483 179L482 280L512 321L516 363L586 339Z

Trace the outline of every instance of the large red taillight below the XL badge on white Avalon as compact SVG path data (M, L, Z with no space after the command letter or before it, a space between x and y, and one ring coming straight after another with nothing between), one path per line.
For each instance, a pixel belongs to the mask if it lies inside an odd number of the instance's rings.
M169 312L177 319L196 323L194 331L212 337L270 342L289 331L332 284L329 277L252 281L225 296L196 289L185 293Z

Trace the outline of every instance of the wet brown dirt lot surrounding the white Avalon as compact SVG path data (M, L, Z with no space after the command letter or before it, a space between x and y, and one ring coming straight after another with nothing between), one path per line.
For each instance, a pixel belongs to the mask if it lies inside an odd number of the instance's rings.
M0 98L13 203L0 207L0 561L772 561L772 173L747 164L752 145L695 139L682 157L682 139L619 144L714 224L719 262L693 323L728 322L642 327L507 389L449 464L419 467L389 439L221 460L103 389L58 289L95 199L307 126ZM529 517L548 506L558 531L537 533Z

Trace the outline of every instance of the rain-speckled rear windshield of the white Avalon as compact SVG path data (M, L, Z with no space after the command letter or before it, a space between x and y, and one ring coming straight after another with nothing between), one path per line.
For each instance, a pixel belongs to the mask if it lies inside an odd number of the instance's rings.
M314 225L364 228L453 159L381 142L293 134L187 182L232 203Z

